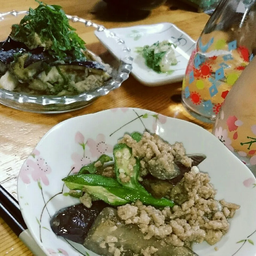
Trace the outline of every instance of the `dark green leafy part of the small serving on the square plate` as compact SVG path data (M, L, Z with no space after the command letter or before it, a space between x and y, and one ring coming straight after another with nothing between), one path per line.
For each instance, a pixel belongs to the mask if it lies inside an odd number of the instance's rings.
M157 47L160 47L161 45L168 45L168 46L174 46L176 48L177 46L173 43L169 42L162 42L159 43L159 41L155 42L153 45L145 45L144 47L137 47L136 51L137 53L140 53L142 57L145 59L145 64L150 68L153 69L157 73L162 73L160 62L162 61L162 58L166 54L167 51L160 51L158 53L155 53L155 49ZM174 65L177 64L177 61Z

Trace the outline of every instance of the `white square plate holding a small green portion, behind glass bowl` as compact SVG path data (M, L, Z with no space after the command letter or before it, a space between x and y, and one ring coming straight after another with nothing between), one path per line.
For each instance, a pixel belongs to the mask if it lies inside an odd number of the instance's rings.
M122 27L110 29L109 31L122 38L130 48L131 56L134 58L131 73L142 84L146 86L159 86L183 80L187 63L195 47L195 41L174 24L165 22L145 26ZM120 58L115 44L107 40L106 36L102 35L99 31L95 31L95 35L116 58ZM172 74L158 74L151 70L145 65L143 57L136 52L136 47L152 45L157 41L162 42L164 40L177 45L175 56L178 64L173 66L175 71Z

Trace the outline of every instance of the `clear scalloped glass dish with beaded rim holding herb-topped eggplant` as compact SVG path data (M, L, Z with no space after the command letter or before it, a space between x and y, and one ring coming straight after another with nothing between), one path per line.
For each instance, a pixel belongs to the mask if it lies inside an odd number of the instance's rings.
M1 41L5 40L10 33L10 30L7 30L6 27L11 27L12 24L19 23L26 13L27 11L9 11L7 13L0 13L0 26L5 28L0 31ZM84 33L89 35L91 31L97 30L107 42L111 43L111 45L115 45L115 48L119 52L118 59L103 59L105 63L108 63L113 67L113 72L111 74L112 78L102 87L92 91L62 97L15 93L13 91L0 89L1 104L14 109L35 113L63 113L73 111L81 109L91 104L96 98L108 94L111 90L117 89L122 82L129 77L133 58L130 55L130 49L125 45L122 39L101 25L97 25L77 16L67 15L67 17L71 22L74 22L72 26L77 29L77 33L80 36ZM93 35L93 33L91 34ZM84 41L90 43L90 40L91 38L88 37L87 40L85 39ZM93 50L94 49L92 49L92 51ZM109 61L111 63L109 63Z

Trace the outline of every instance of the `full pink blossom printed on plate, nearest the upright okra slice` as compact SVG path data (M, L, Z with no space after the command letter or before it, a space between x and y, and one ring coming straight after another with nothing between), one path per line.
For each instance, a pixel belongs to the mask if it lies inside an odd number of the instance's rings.
M87 145L90 148L91 156L98 158L102 154L112 153L113 146L105 142L105 135L98 134L96 140L88 139Z

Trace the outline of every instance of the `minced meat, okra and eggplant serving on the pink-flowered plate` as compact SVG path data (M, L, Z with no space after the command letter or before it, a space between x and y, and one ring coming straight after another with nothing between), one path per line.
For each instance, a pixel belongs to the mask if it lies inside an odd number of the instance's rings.
M228 232L240 206L215 199L197 167L205 155L148 132L125 134L113 155L62 179L81 204L54 215L55 234L103 256L196 256L193 243L214 245Z

